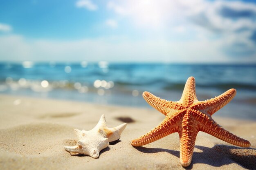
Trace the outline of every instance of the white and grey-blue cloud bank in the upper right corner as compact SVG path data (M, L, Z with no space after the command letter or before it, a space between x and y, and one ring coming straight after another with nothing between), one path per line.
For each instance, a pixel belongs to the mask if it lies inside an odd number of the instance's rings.
M205 3L201 10L191 13L195 24L219 35L222 50L230 56L256 56L256 4L214 1Z

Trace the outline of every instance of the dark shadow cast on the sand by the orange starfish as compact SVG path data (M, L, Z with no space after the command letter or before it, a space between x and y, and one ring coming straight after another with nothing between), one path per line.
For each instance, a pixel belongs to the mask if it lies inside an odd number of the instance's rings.
M180 158L180 151L169 150L162 148L145 148L135 147L140 152L157 153L168 152L177 158ZM215 145L212 148L204 146L195 146L202 152L194 152L190 166L184 167L187 170L193 168L195 163L205 163L210 166L220 167L230 163L237 163L239 166L256 170L256 149L255 148L240 148L236 146Z

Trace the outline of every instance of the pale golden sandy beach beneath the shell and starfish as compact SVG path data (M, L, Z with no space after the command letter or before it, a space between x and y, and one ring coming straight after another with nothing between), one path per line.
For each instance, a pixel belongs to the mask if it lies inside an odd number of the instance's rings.
M229 107L228 105L225 107ZM256 122L213 115L218 124L251 142L240 148L199 132L192 163L183 168L177 133L143 147L130 141L159 124L164 115L154 109L102 106L84 102L0 95L0 169L256 169ZM71 155L64 146L76 144L74 128L92 129L102 114L108 127L127 122L116 144L101 151L98 159Z

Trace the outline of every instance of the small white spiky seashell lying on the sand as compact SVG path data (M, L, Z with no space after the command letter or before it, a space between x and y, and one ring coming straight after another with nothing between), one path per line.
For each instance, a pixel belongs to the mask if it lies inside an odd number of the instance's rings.
M89 155L93 158L99 157L99 152L107 148L109 142L117 141L126 128L126 124L121 124L115 128L108 128L105 115L102 115L98 124L89 131L75 129L74 132L78 137L76 146L65 146L68 152Z

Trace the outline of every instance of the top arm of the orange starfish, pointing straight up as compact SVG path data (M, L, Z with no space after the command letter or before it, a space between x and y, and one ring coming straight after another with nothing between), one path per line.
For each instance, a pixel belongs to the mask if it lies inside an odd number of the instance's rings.
M197 100L195 94L195 78L189 77L186 81L180 102L185 106L191 106L191 104Z

